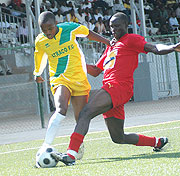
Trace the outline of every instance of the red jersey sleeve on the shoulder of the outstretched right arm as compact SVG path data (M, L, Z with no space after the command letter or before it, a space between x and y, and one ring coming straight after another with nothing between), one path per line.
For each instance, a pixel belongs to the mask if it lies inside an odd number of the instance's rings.
M144 51L144 45L146 43L147 43L147 41L145 41L144 37L133 34L129 38L128 46L138 53L146 53L147 54L147 52Z

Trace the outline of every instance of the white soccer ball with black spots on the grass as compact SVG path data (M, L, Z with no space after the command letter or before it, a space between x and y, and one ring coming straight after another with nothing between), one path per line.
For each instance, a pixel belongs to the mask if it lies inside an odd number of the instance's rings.
M56 152L54 147L42 146L36 154L36 167L55 167L58 162L51 157L52 152Z

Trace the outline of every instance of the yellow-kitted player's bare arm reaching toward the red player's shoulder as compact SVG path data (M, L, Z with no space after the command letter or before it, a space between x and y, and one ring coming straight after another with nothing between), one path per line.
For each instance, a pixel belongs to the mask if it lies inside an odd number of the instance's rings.
M104 38L103 36L89 30L89 35L87 36L87 38L89 40L95 40L97 42L101 42L101 43L104 43L106 45L109 45L110 46L110 40Z

